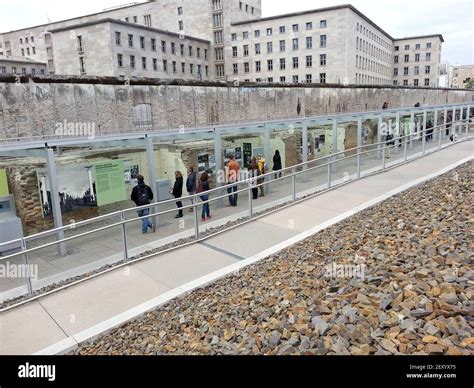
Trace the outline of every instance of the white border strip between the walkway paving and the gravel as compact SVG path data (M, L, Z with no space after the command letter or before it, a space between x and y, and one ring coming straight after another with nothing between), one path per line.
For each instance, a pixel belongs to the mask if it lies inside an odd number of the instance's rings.
M257 253L256 255L249 257L245 260L242 260L240 262L237 262L235 264L231 264L230 266L227 266L225 268L222 268L220 270L214 271L208 275L205 275L203 277L200 277L198 279L195 279L191 282L188 282L180 287L174 288L154 299L149 300L148 302L145 302L139 306L136 306L130 310L127 310L121 314L118 314L106 321L103 321L95 326L90 327L89 329L86 329L84 331L81 331L69 338L66 338L54 345L51 345L43 350L40 350L39 352L34 353L34 355L52 355L52 354L65 354L70 351L73 351L79 347L81 344L85 344L91 341L94 341L97 339L99 336L106 334L107 332L110 332L114 328L121 326L122 324L128 322L131 319L137 318L140 315L143 315L149 311L155 310L156 308L169 303L173 299L183 297L191 293L192 291L199 289L199 288L204 288L215 281L226 277L231 274L237 274L240 270L242 270L245 267L248 267L252 264L255 264L268 256L274 255L275 253L278 253L282 251L285 248L288 248L289 246L292 246L296 243L301 242L302 240L326 229L329 228L330 226L333 226L342 220L349 218L367 208L370 208L380 202L385 201L386 199L393 197L394 195L397 195L403 191L406 191L410 189L413 186L417 186L420 183L429 181L433 178L436 178L440 175L445 174L446 172L449 172L450 170L453 170L454 168L465 164L471 160L474 159L474 155L471 155L465 159L462 159L456 163L453 163L435 173L432 173L430 175L423 176L421 178L415 179L414 181L411 181L405 185L402 185L400 187L397 187L396 189L389 191L383 195L380 195L376 198L373 198L362 205L356 206L353 209L340 214L337 217L334 217L326 222L323 222L322 224L319 224L303 233L298 234L297 236L294 236L286 241L281 242L280 244L274 245L271 248L268 248L260 253Z

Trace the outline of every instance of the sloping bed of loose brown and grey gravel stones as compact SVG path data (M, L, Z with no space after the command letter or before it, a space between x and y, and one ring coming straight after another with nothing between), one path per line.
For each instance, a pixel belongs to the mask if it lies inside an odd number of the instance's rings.
M472 355L473 167L401 193L74 354Z

